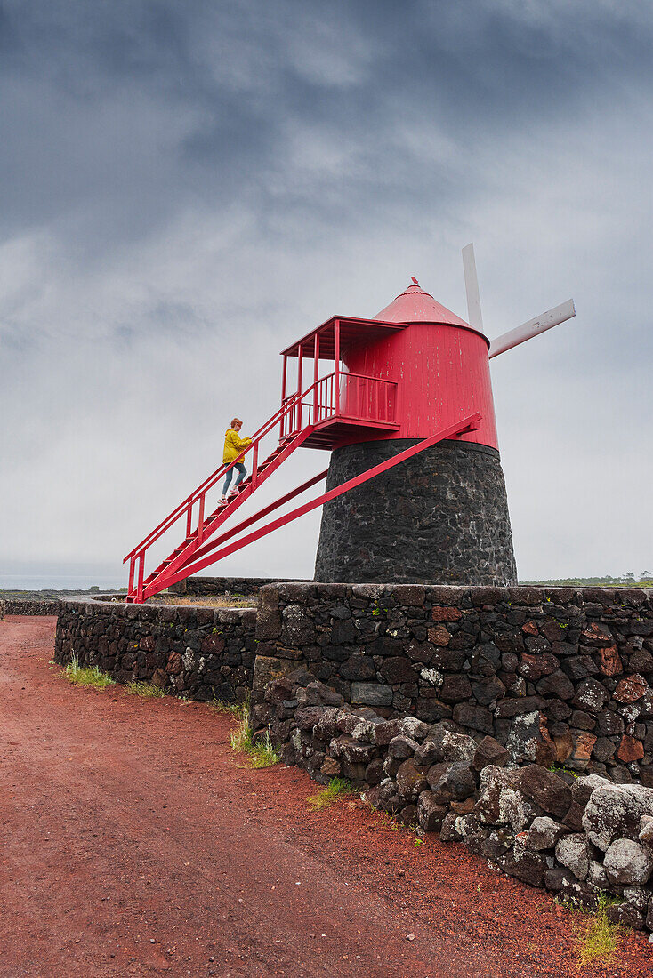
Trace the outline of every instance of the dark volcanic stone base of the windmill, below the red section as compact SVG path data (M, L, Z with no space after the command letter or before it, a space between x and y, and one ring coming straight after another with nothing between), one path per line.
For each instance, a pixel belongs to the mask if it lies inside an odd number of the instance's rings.
M327 490L416 444L337 449ZM498 452L444 441L327 503L316 581L517 583Z

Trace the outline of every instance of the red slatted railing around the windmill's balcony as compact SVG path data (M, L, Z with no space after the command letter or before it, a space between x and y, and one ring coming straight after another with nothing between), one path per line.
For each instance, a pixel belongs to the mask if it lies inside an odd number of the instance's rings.
M296 434L307 424L320 424L336 418L350 422L395 422L394 380L342 373L338 378L338 389L335 373L328 374L313 384L308 398L296 400L282 417L282 438ZM291 400L292 397L286 398L284 404Z

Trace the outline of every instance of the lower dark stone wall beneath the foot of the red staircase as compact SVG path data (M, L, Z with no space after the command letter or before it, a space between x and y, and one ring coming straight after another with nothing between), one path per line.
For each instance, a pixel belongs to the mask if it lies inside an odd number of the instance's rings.
M256 657L254 608L63 600L55 659L99 666L120 683L154 683L192 699L242 701Z

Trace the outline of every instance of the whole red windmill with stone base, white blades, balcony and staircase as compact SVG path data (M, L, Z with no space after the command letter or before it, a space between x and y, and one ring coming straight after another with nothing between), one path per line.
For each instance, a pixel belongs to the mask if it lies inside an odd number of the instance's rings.
M463 264L469 322L413 278L373 319L332 316L282 352L281 406L236 460L250 469L238 496L218 505L218 483L235 463L212 472L124 558L128 601L147 600L319 506L317 580L513 583L490 358L574 316L574 303L490 343L471 244ZM297 380L288 393L291 360ZM331 451L329 469L234 524L301 447ZM327 475L321 495L245 532ZM184 539L146 575L147 551L179 522Z

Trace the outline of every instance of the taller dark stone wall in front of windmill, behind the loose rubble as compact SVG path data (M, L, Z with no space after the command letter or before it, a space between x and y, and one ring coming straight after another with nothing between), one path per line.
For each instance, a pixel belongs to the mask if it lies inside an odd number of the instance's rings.
M280 584L253 700L299 665L353 706L450 721L521 759L653 785L653 605L639 590Z

